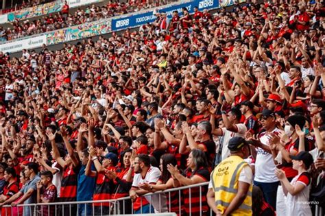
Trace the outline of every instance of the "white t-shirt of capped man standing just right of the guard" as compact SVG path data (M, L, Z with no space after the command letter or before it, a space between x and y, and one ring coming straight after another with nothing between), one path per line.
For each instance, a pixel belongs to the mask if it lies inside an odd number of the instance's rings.
M272 133L274 132L279 132L278 128L272 131ZM269 146L270 136L266 132L261 133L259 139L261 143ZM256 152L254 180L263 183L278 182L278 178L275 175L276 165L272 154L269 154L260 147L256 148Z

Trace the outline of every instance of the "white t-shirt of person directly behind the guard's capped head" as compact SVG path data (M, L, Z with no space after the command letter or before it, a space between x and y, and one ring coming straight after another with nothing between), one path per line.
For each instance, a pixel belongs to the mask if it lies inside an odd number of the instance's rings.
M230 139L234 136L241 136L245 137L245 132L247 131L246 126L243 123L237 123L236 124L238 130L237 133L231 132L230 130L227 130L226 128L222 128L222 136L224 136L224 143L222 146L222 152L221 152L221 160L224 160L230 156L230 150L228 149L228 143Z

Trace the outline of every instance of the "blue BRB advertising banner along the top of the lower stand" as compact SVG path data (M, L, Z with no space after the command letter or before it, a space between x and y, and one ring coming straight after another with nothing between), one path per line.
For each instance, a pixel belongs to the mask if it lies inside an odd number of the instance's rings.
M187 8L189 13L193 13L193 8L197 7L199 10L219 8L219 0L202 0L202 1L190 1L186 3L180 3L178 5L171 5L166 8L160 8L160 12L166 12L167 17L171 18L174 10L178 11L178 14L182 15L182 8ZM124 16L118 19L112 19L112 31L118 31L129 27L136 27L145 23L152 23L156 19L154 10L145 12L142 14L134 14L131 16Z

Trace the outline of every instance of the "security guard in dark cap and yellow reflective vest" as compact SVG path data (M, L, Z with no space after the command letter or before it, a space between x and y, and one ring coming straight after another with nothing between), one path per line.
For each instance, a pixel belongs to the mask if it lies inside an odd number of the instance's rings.
M239 136L230 139L230 156L211 173L208 205L217 215L252 215L252 169L244 158L250 146Z

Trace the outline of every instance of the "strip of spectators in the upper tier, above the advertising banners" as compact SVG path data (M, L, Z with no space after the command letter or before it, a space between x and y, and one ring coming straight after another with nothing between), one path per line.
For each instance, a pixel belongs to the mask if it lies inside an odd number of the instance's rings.
M69 4L65 2L62 11L56 14L49 14L49 16L34 21L29 21L29 19L19 21L16 19L11 23L12 27L8 27L7 29L0 26L0 42L23 38L34 34L42 34L44 32L51 32L56 29L72 27L73 25L99 21L112 16L137 12L139 10L145 10L171 2L173 2L173 0L128 2L109 1L108 4L104 6L91 5L86 7L84 10L78 8L75 12L69 12Z

